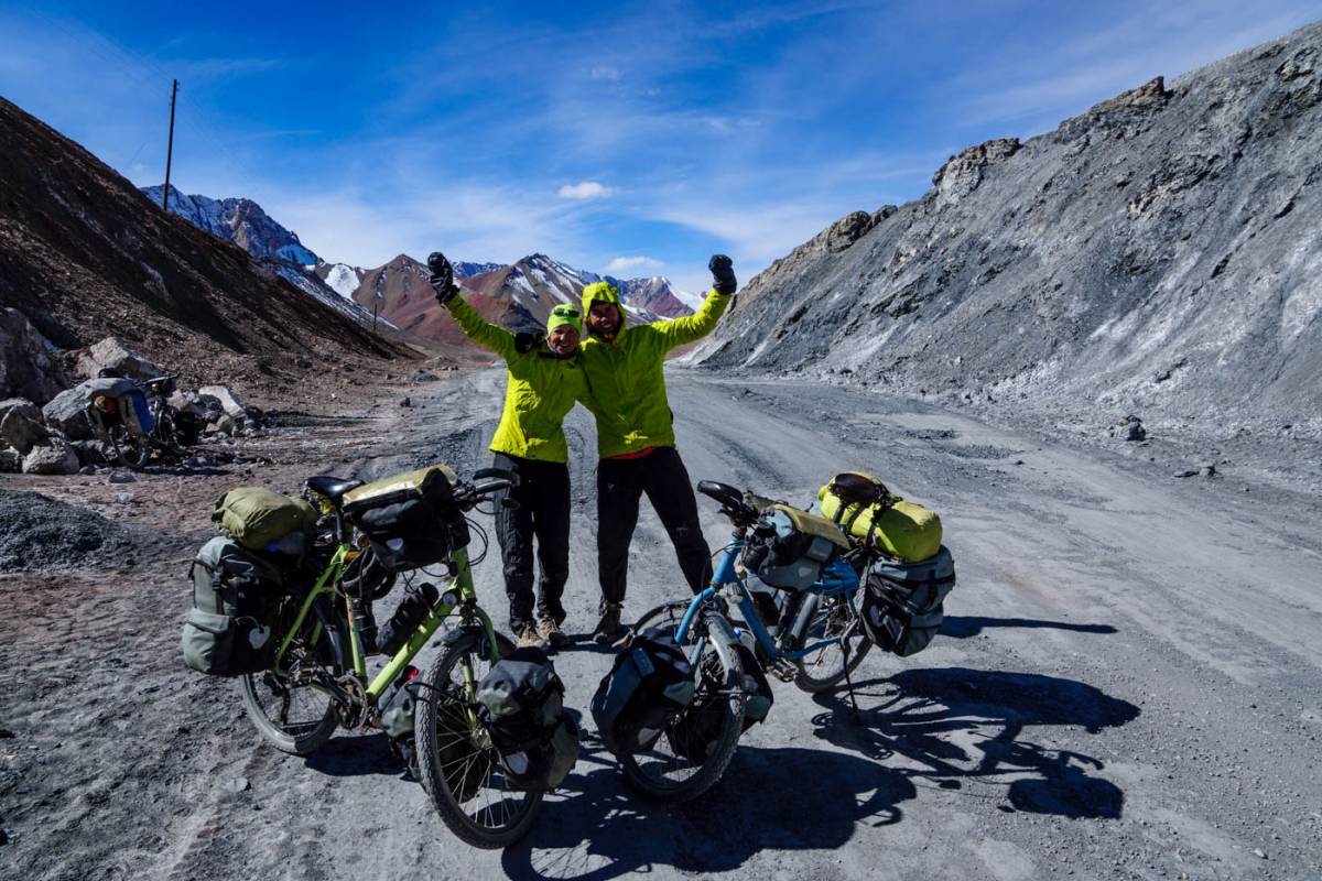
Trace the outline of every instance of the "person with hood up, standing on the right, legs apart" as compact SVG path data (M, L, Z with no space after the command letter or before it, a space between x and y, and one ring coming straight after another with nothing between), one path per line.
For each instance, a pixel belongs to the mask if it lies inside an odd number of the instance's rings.
M598 281L583 291L588 335L582 361L591 394L584 403L596 416L602 457L596 470L602 619L592 634L600 643L615 642L621 634L629 543L644 493L693 592L702 590L710 576L711 549L702 538L689 472L674 448L674 415L662 370L672 349L711 333L738 288L730 258L718 254L707 268L714 284L702 306L691 316L650 325L625 326L615 285Z

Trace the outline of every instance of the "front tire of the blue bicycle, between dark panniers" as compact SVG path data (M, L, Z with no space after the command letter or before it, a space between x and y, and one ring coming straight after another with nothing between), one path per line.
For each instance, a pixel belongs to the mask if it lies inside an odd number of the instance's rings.
M639 629L658 612L670 612L674 605L653 609L635 625L635 629ZM676 621L676 627L677 625ZM714 635L713 631L717 630L719 629L711 627L706 619L697 622L690 629L690 634L697 635L703 631L707 638L703 641L702 651L695 659L691 659L697 689L689 707L676 717L649 750L619 757L625 783L652 800L668 804L691 802L715 786L734 759L739 736L743 734L744 676L739 655L734 651L732 637ZM722 643L720 649L715 645L717 639ZM695 639L686 638L685 646L691 646L694 642ZM717 709L720 713L719 733L714 741L710 741L705 758L695 762L683 756L685 750L681 748L683 734L681 732L687 730L693 722L693 715L709 712L713 707L719 708ZM699 722L699 725L707 724L710 722ZM673 754L666 757L661 752L665 748L670 748ZM693 771L689 777L680 779L668 777L670 773L689 770Z

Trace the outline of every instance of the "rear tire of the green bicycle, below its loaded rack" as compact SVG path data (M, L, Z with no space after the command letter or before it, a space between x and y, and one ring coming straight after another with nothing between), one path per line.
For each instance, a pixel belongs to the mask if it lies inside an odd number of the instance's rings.
M304 625L304 631L311 633L315 627L316 621L309 621ZM282 634L286 633L286 629L276 626L274 631ZM325 629L321 629L317 645L311 649L301 638L296 637L286 658L287 668L291 671L304 663L315 663L333 670L334 650L330 645L330 637ZM243 707L258 734L282 753L307 756L330 740L336 728L340 726L340 712L336 709L334 699L315 686L290 688L287 683L282 684L274 672L264 671L241 676L239 691L243 695ZM263 692L268 692L271 697L280 697L283 720L271 717L270 711L263 705ZM295 693L309 699L307 712L299 713L303 717L299 721L288 719L290 705L286 699ZM319 695L319 697L312 695Z

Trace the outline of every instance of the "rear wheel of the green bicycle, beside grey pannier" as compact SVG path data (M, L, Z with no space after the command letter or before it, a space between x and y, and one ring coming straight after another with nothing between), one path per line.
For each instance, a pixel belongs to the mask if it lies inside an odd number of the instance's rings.
M334 699L317 684L334 679L334 647L325 629L316 625L316 617L311 617L290 643L284 675L267 670L239 678L243 705L258 734L278 750L295 756L307 756L325 744L340 725ZM287 626L276 625L271 638L280 638Z

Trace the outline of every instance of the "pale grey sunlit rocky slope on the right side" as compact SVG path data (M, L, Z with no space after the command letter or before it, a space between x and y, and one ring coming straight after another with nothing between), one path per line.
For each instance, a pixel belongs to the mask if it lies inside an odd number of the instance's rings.
M970 402L1322 429L1322 24L943 165L694 353Z

